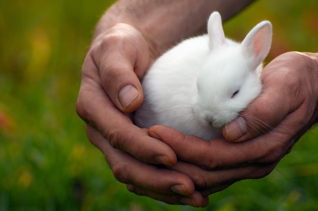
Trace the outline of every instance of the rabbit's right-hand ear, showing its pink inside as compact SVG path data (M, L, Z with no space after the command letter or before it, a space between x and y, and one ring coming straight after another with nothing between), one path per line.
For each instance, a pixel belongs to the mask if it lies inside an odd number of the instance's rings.
M253 58L258 66L267 57L272 43L272 24L262 21L257 24L241 43L243 55Z

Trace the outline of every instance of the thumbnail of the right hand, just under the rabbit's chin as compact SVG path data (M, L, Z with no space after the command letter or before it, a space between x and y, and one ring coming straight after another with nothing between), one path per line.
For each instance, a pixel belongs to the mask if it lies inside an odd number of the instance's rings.
M235 142L247 133L247 125L242 116L239 116L229 124L225 125L226 136L229 141Z

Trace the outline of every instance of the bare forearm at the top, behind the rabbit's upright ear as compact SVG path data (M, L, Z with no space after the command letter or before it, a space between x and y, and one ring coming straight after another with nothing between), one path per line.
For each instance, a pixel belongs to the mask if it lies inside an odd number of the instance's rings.
M224 20L235 15L253 0L121 0L100 20L95 36L116 23L127 23L142 32L161 54L179 40L205 30L212 11L219 11Z

